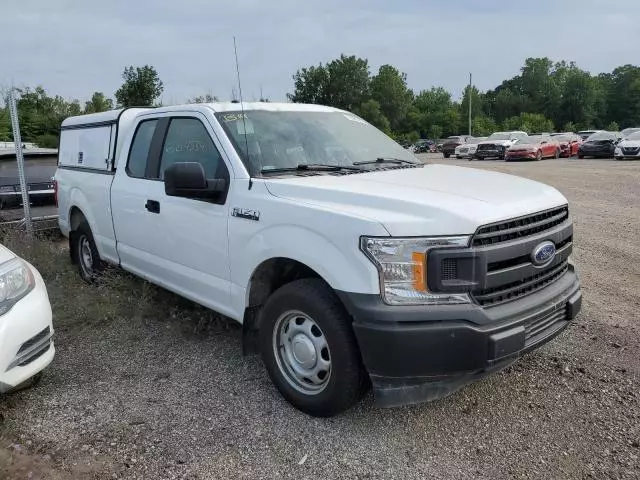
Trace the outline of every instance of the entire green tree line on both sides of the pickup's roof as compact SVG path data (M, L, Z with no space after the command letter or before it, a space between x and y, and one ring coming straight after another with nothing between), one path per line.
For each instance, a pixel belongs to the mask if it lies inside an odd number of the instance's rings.
M23 140L56 147L60 123L68 116L157 105L164 86L152 66L126 67L122 77L115 99L94 92L84 105L50 96L41 86L19 90ZM496 130L618 130L640 125L640 67L623 65L611 73L592 75L574 62L528 58L518 75L495 89L481 92L467 86L457 101L443 87L414 92L407 85L407 75L392 65L382 65L372 74L367 59L341 55L298 70L293 75L293 93L287 97L292 102L352 111L389 135L409 141L468 133L470 98L476 136ZM216 100L208 94L188 101ZM0 141L11 138L5 106L0 108Z

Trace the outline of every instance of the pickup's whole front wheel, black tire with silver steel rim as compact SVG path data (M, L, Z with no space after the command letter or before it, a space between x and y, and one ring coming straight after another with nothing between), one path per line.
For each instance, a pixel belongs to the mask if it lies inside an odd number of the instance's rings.
M368 386L351 318L320 279L297 280L261 312L260 350L271 381L294 407L330 417L353 406Z

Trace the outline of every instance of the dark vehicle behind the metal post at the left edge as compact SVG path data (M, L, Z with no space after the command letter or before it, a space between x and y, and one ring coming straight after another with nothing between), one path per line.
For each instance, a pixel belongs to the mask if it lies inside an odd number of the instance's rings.
M25 148L23 157L30 202L54 205L53 176L58 163L58 151L50 148ZM18 207L21 202L22 190L15 148L0 149L0 208Z

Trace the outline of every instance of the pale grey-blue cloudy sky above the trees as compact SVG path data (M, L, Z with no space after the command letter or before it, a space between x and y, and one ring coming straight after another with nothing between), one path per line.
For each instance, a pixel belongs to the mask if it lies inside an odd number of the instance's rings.
M231 97L238 44L245 100L284 100L302 67L340 56L391 64L415 91L458 98L517 75L527 57L593 73L640 63L639 0L2 0L0 87L109 97L127 65L153 65L165 104Z

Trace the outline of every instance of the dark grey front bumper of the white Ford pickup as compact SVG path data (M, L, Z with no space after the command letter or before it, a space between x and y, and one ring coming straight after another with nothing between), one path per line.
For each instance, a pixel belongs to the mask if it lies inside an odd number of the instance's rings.
M572 266L548 287L490 308L399 307L377 295L340 296L384 407L436 400L508 366L564 330L582 301Z

